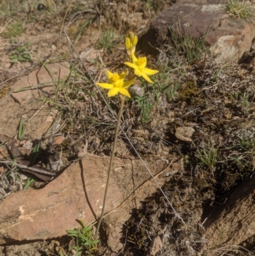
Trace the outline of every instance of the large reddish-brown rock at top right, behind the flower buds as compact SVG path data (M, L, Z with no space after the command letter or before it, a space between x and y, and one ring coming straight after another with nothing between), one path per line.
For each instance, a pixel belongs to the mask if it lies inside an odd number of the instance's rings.
M156 47L170 40L169 29L189 33L194 38L206 35L208 45L217 55L217 63L239 61L251 49L255 36L254 19L230 17L226 13L227 0L180 0L164 10L154 20L143 37L143 50L156 54ZM251 6L251 12L254 9Z

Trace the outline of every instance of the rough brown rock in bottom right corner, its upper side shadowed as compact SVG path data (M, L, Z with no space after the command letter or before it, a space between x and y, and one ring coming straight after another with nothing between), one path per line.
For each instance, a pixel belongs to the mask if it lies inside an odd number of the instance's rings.
M221 246L224 248L231 248L233 245L245 246L242 243L248 239L253 240L252 237L255 236L254 183L253 175L226 197L225 202L215 207L205 220L204 227L207 229L205 238L208 239L205 247L208 251L213 247L217 249ZM210 253L210 255L218 254Z

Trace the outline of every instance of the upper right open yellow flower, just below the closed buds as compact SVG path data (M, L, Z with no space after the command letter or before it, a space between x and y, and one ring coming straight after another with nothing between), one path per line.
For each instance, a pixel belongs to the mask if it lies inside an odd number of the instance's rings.
M147 64L146 57L138 57L136 58L135 54L132 54L132 62L124 62L127 66L130 66L135 70L135 74L138 77L143 77L147 82L150 82L150 84L153 84L152 80L148 77L149 75L155 75L158 71L157 70L150 70L149 68L145 68Z

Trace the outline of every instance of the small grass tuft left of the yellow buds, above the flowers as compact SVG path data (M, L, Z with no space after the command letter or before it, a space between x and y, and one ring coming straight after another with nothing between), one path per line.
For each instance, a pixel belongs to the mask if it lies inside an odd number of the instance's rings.
M108 49L112 52L113 47L119 43L121 36L119 36L113 29L106 29L104 31L99 40L98 40L98 48L99 49Z

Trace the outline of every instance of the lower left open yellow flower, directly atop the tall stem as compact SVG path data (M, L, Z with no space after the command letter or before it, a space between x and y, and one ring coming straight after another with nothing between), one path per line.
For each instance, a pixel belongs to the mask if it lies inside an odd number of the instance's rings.
M96 85L104 89L110 89L110 91L108 91L108 97L113 97L120 93L124 96L131 98L131 95L129 94L127 89L129 86L131 86L131 84L133 84L135 79L124 82L126 72L122 72L119 75L118 73L112 73L107 70L106 74L109 80L109 84L98 82L96 83Z

